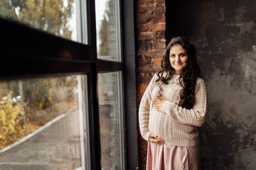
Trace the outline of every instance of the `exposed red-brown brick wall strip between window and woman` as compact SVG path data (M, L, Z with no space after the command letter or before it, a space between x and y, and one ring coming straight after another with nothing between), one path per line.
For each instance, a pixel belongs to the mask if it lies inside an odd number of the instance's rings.
M137 22L137 108L142 95L160 70L161 57L166 48L166 6L164 0L139 0L136 4ZM139 126L138 126L139 127ZM139 129L138 129L139 131ZM146 167L147 142L139 134L139 169Z

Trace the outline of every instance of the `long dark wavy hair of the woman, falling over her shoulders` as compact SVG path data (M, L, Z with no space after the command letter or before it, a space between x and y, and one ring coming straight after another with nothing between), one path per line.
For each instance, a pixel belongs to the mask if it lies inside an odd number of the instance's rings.
M201 77L201 75L200 68L196 62L196 49L186 38L172 38L166 47L166 51L161 60L162 69L161 71L157 72L159 79L156 79L156 82L160 83L158 98L161 99L161 93L163 91L163 89L161 89L161 85L168 84L168 81L174 75L175 69L171 67L171 63L169 60L170 50L171 47L173 47L174 45L181 45L188 54L188 64L183 69L183 72L180 74L180 77L178 79L178 84L182 86L180 92L181 99L178 103L178 106L191 109L195 104L196 79L198 77Z

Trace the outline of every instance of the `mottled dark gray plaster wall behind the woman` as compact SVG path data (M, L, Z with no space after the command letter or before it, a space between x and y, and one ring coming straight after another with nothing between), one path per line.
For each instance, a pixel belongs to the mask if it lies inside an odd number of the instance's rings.
M256 169L256 1L166 1L166 37L191 38L208 89L203 169Z

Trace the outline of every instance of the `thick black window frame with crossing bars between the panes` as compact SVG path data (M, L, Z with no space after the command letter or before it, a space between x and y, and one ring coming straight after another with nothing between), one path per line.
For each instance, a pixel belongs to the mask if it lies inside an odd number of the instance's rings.
M88 44L60 38L17 21L0 18L0 80L87 74L90 165L100 167L100 123L97 73L122 71L126 169L137 169L137 103L134 45L134 1L121 0L122 62L97 59L95 1L87 1ZM67 59L59 52L68 52Z

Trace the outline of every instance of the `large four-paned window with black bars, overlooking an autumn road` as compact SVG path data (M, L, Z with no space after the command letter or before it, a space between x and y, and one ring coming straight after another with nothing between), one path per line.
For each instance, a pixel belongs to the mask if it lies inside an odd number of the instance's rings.
M126 169L120 4L0 1L1 168Z

